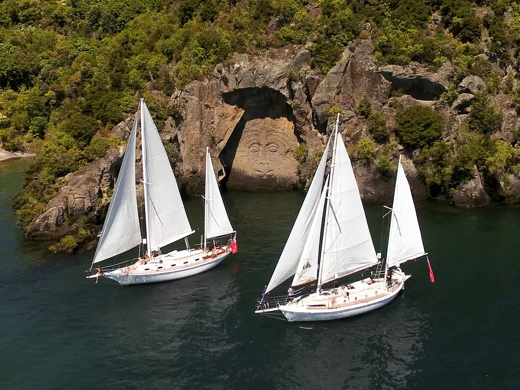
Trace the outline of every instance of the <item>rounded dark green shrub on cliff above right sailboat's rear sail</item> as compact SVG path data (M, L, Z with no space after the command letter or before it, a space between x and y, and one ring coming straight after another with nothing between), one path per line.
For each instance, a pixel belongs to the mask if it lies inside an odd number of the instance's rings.
M400 109L396 120L396 134L400 144L412 150L432 146L444 129L443 119L430 107Z

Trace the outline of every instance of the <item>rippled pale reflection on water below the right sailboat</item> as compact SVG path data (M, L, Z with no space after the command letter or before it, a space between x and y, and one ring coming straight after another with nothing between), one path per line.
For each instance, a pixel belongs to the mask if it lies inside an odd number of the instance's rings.
M280 367L289 376L284 383L329 389L412 385L409 377L429 330L428 315L409 305L399 295L387 307L353 319L287 324L280 344L292 352Z

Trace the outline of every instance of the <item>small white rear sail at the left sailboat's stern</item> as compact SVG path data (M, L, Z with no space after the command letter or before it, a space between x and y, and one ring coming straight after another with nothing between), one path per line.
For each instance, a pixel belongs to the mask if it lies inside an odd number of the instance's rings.
M206 189L205 189L205 237L214 238L232 233L233 227L220 196L209 148L206 148Z

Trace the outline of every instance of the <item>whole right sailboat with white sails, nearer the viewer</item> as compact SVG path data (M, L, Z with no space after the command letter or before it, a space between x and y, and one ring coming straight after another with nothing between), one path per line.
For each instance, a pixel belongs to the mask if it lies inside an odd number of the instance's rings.
M323 180L329 139L255 313L281 311L289 321L333 320L366 313L393 301L404 289L410 275L401 270L400 264L427 255L400 158L390 209L386 261L375 252L352 164L338 127L339 114L330 174ZM374 266L377 267L371 277L358 275ZM293 275L288 295L269 300L269 292ZM353 280L356 275L359 278L342 284L340 279L349 275ZM313 282L317 282L316 290L305 293L305 285ZM295 294L293 287L300 286L303 287Z

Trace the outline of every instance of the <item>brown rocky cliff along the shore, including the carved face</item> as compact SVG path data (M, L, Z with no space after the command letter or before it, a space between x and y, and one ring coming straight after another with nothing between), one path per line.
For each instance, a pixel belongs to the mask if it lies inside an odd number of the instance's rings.
M370 25L365 29L369 31ZM383 174L376 158L385 158L395 168L401 154L415 199L438 197L457 206L484 205L492 199L518 202L520 181L516 176L497 174L490 180L476 166L473 176L451 193L432 193L418 173L418 152L399 145L392 131L384 145L374 144L370 159L359 157L356 147L360 141L372 139L367 115L360 109L363 101L368 99L371 110L382 113L391 130L398 107L434 108L444 118L442 138L454 147L459 126L467 123L472 100L486 90L480 77L469 76L457 85L455 98L446 102L453 84L450 62L435 72L413 62L406 67L378 66L370 34L366 36L346 48L325 75L311 67L308 47L286 46L254 58L237 54L228 63L218 64L210 76L177 90L171 99L180 113L168 119L160 132L165 144L178 150L174 162L183 190L203 191L206 146L210 146L220 183L229 190L296 188L304 183L299 183L301 166L294 152L302 144L311 152L321 152L332 132L335 113L340 112L340 132L351 153L363 200L391 199L392 172ZM492 59L483 59L496 66ZM505 71L497 69L505 80ZM490 104L504 118L493 137L509 142L518 124L513 101L500 93L491 97ZM114 132L127 135L128 127L122 123ZM74 226L100 224L122 152L110 150L70 174L67 185L48 203L27 237L54 239Z

